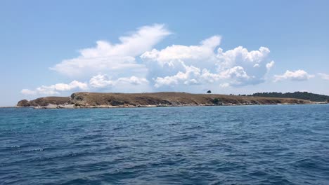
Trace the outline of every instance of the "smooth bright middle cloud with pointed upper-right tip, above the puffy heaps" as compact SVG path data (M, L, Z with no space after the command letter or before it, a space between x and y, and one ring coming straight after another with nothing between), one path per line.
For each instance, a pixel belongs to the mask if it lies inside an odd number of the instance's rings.
M185 66L210 69L216 63L214 49L219 46L221 36L212 36L198 46L172 45L162 50L153 49L143 53L141 60L148 68L148 78L173 76L184 71Z

